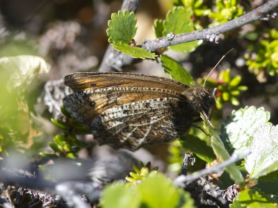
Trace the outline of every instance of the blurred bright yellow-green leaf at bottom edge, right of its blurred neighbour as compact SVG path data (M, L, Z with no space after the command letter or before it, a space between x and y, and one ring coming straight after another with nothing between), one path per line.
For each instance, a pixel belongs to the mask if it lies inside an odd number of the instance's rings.
M138 185L138 191L145 207L168 208L178 207L178 205L179 207L194 207L189 193L174 187L172 182L161 173L151 173ZM181 198L183 198L182 205L179 204Z

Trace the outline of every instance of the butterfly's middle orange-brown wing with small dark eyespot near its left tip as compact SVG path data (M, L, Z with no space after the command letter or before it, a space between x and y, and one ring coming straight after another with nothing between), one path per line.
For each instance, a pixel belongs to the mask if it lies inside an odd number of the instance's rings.
M95 116L110 108L155 98L176 98L186 102L183 94L167 89L108 87L70 94L63 99L63 103L77 121L90 126Z

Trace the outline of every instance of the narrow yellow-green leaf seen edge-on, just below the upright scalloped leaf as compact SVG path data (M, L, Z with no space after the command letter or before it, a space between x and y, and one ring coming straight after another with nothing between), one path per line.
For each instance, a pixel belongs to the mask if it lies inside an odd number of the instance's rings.
M130 46L129 44L124 44L121 42L113 42L113 47L117 51L121 51L122 53L125 53L127 55L131 55L133 58L156 58L156 54L152 53L150 51L147 51L146 49L142 49L139 47L133 47Z

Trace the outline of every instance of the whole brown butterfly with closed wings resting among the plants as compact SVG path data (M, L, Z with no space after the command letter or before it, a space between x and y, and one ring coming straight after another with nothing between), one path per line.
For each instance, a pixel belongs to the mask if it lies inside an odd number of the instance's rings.
M173 141L193 123L208 119L215 105L212 89L158 76L121 72L72 73L64 78L73 94L63 104L88 126L100 145L137 150Z

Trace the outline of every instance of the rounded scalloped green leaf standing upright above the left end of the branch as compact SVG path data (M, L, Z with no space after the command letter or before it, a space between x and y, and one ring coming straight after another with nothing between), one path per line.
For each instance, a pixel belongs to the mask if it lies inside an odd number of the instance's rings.
M111 20L108 21L108 42L122 42L129 44L136 34L136 18L134 12L124 10L111 15Z

